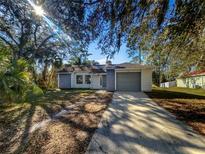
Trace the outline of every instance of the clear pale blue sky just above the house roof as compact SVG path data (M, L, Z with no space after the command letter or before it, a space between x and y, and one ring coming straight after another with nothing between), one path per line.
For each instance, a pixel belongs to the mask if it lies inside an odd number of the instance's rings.
M124 62L130 62L131 58L129 58L127 52L126 52L126 45L123 44L120 48L119 53L116 53L114 58L112 59L113 64L119 64ZM102 55L102 51L100 49L97 49L97 43L91 43L88 48L89 53L92 55L89 56L89 59L98 61L100 64L105 64L106 56Z

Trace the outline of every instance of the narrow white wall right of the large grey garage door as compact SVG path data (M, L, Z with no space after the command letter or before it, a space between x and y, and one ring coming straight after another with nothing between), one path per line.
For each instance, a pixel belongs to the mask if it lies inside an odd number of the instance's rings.
M152 69L142 69L141 88L142 91L152 91Z

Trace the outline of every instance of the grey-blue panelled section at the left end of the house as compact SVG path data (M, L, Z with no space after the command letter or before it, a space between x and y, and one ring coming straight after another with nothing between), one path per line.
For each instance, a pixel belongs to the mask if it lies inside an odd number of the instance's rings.
M68 89L71 88L71 75L59 74L59 88Z

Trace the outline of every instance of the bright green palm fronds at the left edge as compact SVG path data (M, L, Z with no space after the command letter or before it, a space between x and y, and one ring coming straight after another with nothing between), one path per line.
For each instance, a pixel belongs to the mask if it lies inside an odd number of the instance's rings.
M25 98L30 87L30 74L28 64L24 59L13 61L0 72L1 97L9 100L21 100Z

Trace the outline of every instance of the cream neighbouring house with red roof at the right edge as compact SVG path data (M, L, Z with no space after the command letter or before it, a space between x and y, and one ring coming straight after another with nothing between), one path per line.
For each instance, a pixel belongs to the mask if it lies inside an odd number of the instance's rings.
M176 81L177 87L205 88L205 70L182 74Z

